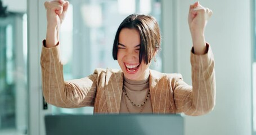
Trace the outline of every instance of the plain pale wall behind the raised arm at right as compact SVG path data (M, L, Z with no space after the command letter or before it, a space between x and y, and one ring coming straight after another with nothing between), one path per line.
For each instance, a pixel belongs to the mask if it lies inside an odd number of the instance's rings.
M177 3L178 72L191 84L188 7L194 1ZM206 40L215 59L217 98L208 115L185 118L186 135L251 134L251 4L250 0L201 0L213 10Z

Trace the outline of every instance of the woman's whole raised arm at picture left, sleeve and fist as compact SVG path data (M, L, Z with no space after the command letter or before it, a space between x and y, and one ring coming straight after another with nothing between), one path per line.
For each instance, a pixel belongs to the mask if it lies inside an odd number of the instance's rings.
M43 41L41 71L43 95L48 104L75 108L93 106L97 89L97 72L86 78L64 81L60 59L59 29L68 10L68 1L47 1L47 36Z

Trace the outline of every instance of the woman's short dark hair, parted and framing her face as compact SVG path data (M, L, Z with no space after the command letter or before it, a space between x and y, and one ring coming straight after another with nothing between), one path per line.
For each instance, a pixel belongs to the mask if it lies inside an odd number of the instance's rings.
M145 64L149 64L154 53L159 50L161 43L160 28L156 19L150 15L138 13L126 17L115 34L112 52L114 60L118 59L118 40L120 31L123 28L137 29L139 31L141 38L139 61L141 64L143 59Z

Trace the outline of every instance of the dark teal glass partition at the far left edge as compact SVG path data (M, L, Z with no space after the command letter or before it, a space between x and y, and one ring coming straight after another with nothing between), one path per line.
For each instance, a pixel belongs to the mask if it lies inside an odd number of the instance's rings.
M27 134L26 13L8 6L0 1L0 134Z

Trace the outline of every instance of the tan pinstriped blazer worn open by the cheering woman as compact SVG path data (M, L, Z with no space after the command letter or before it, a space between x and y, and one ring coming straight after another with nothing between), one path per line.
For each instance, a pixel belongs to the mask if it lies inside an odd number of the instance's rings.
M48 104L75 108L94 106L94 113L119 113L122 98L123 72L96 69L88 77L64 81L59 46L42 48L41 67L43 95ZM150 70L152 111L203 115L215 105L213 53L194 55L191 52L192 86L181 74L164 74Z

